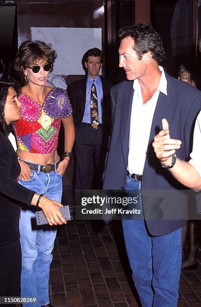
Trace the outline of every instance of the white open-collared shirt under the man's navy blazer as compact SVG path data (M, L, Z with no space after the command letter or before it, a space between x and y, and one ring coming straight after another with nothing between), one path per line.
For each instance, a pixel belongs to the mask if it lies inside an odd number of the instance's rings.
M143 174L144 162L146 159L146 150L151 129L151 123L159 92L167 95L167 80L163 68L159 66L162 72L156 91L150 100L143 104L141 88L137 79L133 81L133 99L130 116L130 134L128 151L128 172L130 174Z

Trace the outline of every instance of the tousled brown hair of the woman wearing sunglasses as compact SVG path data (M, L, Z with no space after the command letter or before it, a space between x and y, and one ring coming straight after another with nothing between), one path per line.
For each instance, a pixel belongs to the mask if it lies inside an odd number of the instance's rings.
M19 74L21 81L24 81L23 71L27 66L31 66L38 60L43 60L51 64L50 71L52 71L56 57L56 52L51 48L51 44L41 41L25 41L19 46L14 61L14 69Z

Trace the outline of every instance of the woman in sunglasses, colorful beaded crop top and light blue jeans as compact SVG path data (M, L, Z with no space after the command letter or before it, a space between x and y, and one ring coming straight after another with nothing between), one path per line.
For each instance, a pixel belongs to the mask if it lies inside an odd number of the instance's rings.
M18 100L21 118L14 124L17 156L21 166L19 183L24 187L61 201L62 176L72 157L74 125L71 106L65 92L45 86L53 69L56 53L40 41L25 41L19 47L15 70L25 81ZM64 154L59 159L56 148L60 122L64 127ZM34 212L21 210L19 231L22 250L21 296L37 297L34 306L50 306L48 296L49 266L56 236L55 228L34 228ZM55 225L54 216L48 220ZM23 304L31 306L31 304Z

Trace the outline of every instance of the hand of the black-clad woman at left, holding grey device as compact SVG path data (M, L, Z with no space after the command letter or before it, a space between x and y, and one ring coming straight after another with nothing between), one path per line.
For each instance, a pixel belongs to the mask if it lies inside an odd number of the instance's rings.
M37 195L37 197L35 195ZM38 194L35 195L33 198L35 198L36 201L39 195ZM38 204L38 207L42 209L42 212L44 213L45 218L50 226L66 224L66 221L64 220L59 210L60 207L63 207L60 203L48 199L45 196L42 196Z

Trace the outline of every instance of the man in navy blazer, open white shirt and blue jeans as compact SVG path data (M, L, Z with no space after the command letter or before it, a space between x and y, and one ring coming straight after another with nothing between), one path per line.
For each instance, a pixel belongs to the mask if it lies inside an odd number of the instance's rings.
M186 160L201 95L158 66L164 51L150 25L122 28L118 35L119 66L128 81L111 89L115 112L103 189L138 191L141 219L122 219L135 287L144 307L176 307L187 199L183 186L161 167L151 144L166 117L171 137L183 143L177 156ZM167 168L175 160L172 157Z

